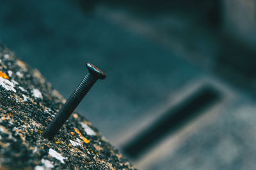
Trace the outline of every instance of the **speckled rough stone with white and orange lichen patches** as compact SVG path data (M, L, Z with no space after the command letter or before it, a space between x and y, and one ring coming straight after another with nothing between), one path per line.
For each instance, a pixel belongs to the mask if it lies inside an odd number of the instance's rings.
M1 168L135 169L78 113L52 141L43 138L65 99L1 44L0 57Z

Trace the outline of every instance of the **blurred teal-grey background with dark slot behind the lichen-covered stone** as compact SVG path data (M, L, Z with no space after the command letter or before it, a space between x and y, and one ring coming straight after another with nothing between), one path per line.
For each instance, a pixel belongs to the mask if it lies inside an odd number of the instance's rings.
M139 169L255 169L256 1L1 0L0 41Z

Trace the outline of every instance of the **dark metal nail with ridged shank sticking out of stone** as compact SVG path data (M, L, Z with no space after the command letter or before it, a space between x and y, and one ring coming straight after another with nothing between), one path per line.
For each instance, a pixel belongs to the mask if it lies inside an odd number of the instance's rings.
M87 92L92 88L93 84L98 80L103 80L106 78L106 74L104 74L100 69L93 66L90 62L86 63L86 67L88 68L89 73L84 76L84 79L77 86L74 92L68 97L66 103L62 106L61 110L58 112L54 120L46 127L42 136L51 140L63 126L63 124L67 121L68 117L72 114L72 112L76 109L78 104L82 101L83 97L87 94Z

